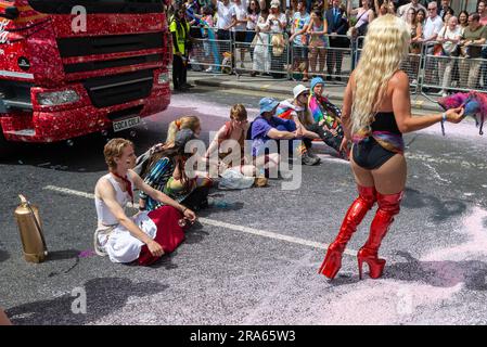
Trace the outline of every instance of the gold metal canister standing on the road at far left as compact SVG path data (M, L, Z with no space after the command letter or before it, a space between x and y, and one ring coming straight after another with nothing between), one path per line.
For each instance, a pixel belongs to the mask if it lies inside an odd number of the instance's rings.
M24 258L30 262L41 262L48 255L48 247L42 233L39 209L31 205L24 195L18 195L21 205L15 209L18 231L24 247Z

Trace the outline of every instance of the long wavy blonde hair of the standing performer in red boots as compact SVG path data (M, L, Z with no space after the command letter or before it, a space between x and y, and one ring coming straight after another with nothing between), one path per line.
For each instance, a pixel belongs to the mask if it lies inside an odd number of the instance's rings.
M374 20L368 28L359 64L355 69L351 132L370 129L387 92L387 83L408 54L411 35L406 23L392 14Z

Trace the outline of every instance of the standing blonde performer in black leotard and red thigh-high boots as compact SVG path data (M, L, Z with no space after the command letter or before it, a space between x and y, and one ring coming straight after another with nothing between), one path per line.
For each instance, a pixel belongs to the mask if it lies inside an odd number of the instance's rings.
M444 114L412 117L408 76L400 70L408 53L410 34L398 17L386 14L373 21L366 37L362 56L345 90L342 125L354 142L350 165L359 196L348 208L335 241L330 245L319 272L333 279L342 266L342 254L367 211L377 202L369 239L357 254L359 277L362 264L369 275L382 275L385 259L377 256L381 242L394 216L399 213L406 185L402 133L438 121L459 123L463 108Z

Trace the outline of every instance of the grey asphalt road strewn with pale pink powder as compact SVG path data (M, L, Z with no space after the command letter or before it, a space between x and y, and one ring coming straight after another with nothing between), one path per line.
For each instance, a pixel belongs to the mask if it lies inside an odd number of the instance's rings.
M164 140L170 120L197 115L207 140L231 104L255 116L262 95L197 88L123 136L142 153ZM0 164L0 306L15 324L486 324L487 137L471 119L446 130L405 136L408 184L381 248L384 277L358 279L355 254L371 211L332 282L317 271L356 188L347 163L324 146L319 166L303 167L298 190L273 180L214 191L233 207L202 211L174 254L141 268L90 253L94 203L82 193L106 170L106 136L18 145ZM40 265L23 259L13 217L20 193L40 206L50 249ZM86 313L74 313L80 291Z

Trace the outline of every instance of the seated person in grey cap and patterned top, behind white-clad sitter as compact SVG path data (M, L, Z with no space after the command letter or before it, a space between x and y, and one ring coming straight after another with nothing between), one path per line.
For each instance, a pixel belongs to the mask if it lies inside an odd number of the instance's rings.
M197 210L205 207L208 188L213 185L213 180L206 172L195 170L192 172L194 175L188 177L189 168L185 162L193 153L184 153L184 147L189 141L195 139L190 129L178 131L174 142L166 142L161 150L150 156L141 176L153 189ZM164 204L144 192L140 193L141 209L153 210Z

